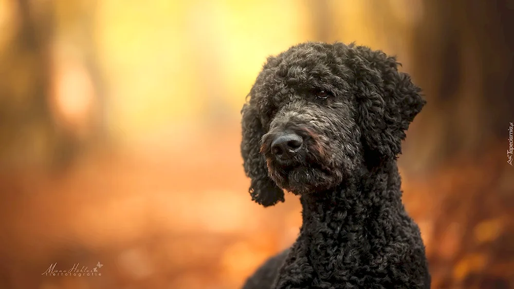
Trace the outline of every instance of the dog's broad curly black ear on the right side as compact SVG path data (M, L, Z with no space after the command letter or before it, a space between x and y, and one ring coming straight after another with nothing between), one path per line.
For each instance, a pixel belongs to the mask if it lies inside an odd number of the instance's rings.
M421 89L409 74L398 71L395 57L363 46L349 49L348 54L356 73L357 121L366 158L372 162L396 158L405 131L426 103Z

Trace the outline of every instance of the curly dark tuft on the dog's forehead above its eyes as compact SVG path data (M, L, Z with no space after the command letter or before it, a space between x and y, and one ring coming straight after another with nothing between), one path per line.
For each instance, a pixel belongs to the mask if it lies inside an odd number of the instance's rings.
M303 103L316 91L348 95L354 73L345 63L344 47L305 43L268 57L252 88L251 102L266 114L283 105Z

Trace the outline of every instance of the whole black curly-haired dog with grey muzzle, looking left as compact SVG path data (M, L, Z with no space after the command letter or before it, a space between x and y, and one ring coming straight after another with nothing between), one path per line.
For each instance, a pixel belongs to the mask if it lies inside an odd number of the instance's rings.
M268 57L242 110L244 168L264 206L301 196L303 225L245 289L430 288L396 164L425 101L397 65L342 43Z

